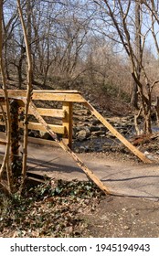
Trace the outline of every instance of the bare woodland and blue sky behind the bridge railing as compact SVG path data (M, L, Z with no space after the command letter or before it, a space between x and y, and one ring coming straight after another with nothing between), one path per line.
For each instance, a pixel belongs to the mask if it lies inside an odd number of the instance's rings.
M106 107L110 95L136 109L142 101L148 115L149 94L159 79L158 1L28 0L21 5L35 89L78 89L100 97ZM4 1L3 28L6 79L13 89L24 89L26 46L16 1Z

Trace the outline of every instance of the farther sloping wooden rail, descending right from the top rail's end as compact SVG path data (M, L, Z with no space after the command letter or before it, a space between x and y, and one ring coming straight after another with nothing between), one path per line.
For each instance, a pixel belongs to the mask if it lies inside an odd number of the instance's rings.
M95 115L100 121L101 123L103 123L105 125L105 127L108 128L108 130L115 136L117 137L121 142L122 144L124 144L127 148L130 149L130 151L138 156L142 161L143 163L146 163L146 164L151 164L152 161L150 159L148 159L145 155L143 155L143 153L141 151L139 151L135 146L133 146L128 140L126 140L121 133L119 133L112 125L111 123L108 123L108 121L106 121L102 115L97 112L91 105L89 102L86 102L84 103L84 105L90 110L90 112Z

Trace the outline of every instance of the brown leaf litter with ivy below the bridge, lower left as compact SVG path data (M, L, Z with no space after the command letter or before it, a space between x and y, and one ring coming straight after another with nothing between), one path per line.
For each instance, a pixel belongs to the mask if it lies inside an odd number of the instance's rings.
M28 185L22 195L0 191L0 237L82 237L84 215L92 213L105 194L92 182L52 179Z

